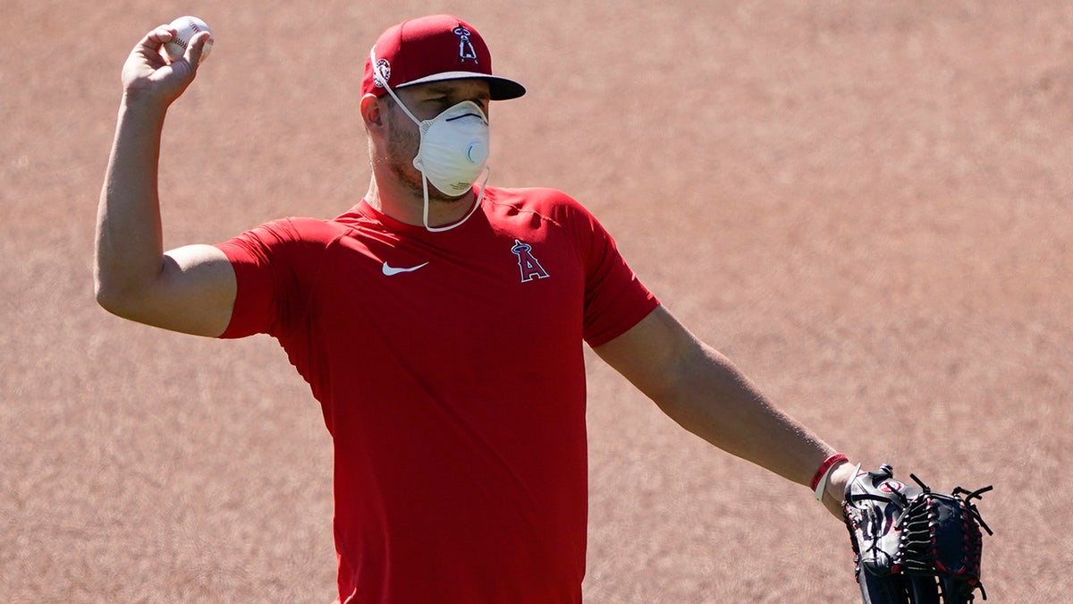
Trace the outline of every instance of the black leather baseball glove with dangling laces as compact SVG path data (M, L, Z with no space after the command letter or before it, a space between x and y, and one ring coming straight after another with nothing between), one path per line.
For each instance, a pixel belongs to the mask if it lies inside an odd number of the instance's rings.
M951 494L894 479L894 469L858 473L846 488L842 514L865 604L961 604L980 589L983 538L990 528L973 500L991 490Z

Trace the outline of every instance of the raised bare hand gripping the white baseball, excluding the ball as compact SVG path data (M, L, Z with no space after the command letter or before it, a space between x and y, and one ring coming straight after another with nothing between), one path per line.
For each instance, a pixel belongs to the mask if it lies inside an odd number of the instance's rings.
M190 40L182 58L168 62L161 53L172 41L175 30L162 25L147 33L123 64L122 84L124 100L130 103L149 103L166 107L178 99L197 74L197 62L210 34L202 31Z

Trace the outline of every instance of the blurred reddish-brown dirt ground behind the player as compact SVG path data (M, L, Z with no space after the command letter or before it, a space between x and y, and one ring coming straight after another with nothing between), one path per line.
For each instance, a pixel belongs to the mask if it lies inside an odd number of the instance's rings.
M372 41L473 23L529 87L491 182L586 203L792 415L981 508L989 602L1073 589L1073 8L1061 2L0 0L0 600L330 602L330 441L268 337L123 322L95 205L134 42L216 46L173 107L168 247L368 179ZM590 355L588 602L856 602L844 529Z

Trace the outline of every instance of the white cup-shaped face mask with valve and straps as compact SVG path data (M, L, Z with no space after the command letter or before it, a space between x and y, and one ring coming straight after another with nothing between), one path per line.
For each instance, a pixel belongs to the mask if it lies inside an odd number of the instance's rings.
M460 226L481 206L484 199L485 175L481 192L469 213L461 220L446 227L428 226L428 184L444 195L458 197L470 189L482 172L488 172L488 118L473 101L462 101L444 110L432 119L417 119L387 85L387 78L377 64L376 48L370 53L374 77L383 84L387 94L402 109L421 132L421 145L413 158L413 167L421 171L424 192L422 221L431 232L447 231Z

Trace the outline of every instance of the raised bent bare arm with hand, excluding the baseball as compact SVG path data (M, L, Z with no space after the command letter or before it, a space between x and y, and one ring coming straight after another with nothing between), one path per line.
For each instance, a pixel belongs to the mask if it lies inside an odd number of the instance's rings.
M231 320L235 273L209 245L163 250L157 171L167 107L196 74L208 33L173 63L160 47L174 31L147 33L123 64L123 96L97 217L97 301L120 317L216 336Z

